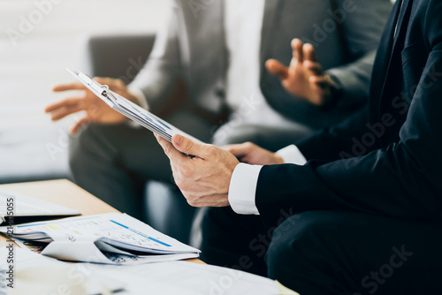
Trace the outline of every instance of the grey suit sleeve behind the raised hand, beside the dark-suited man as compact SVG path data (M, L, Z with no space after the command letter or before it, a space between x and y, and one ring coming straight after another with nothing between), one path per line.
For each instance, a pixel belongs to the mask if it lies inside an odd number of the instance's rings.
M337 0L335 5L341 11L347 11L345 18L337 21L341 23L343 42L347 44L348 54L354 62L332 68L326 73L342 90L334 107L353 110L354 105L365 103L369 96L377 45L392 4L390 0Z

